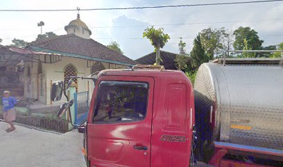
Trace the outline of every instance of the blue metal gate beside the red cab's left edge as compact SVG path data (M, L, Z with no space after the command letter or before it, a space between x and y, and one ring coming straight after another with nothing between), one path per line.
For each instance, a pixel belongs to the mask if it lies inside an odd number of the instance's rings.
M89 111L89 92L74 93L75 125L82 125L87 121Z

